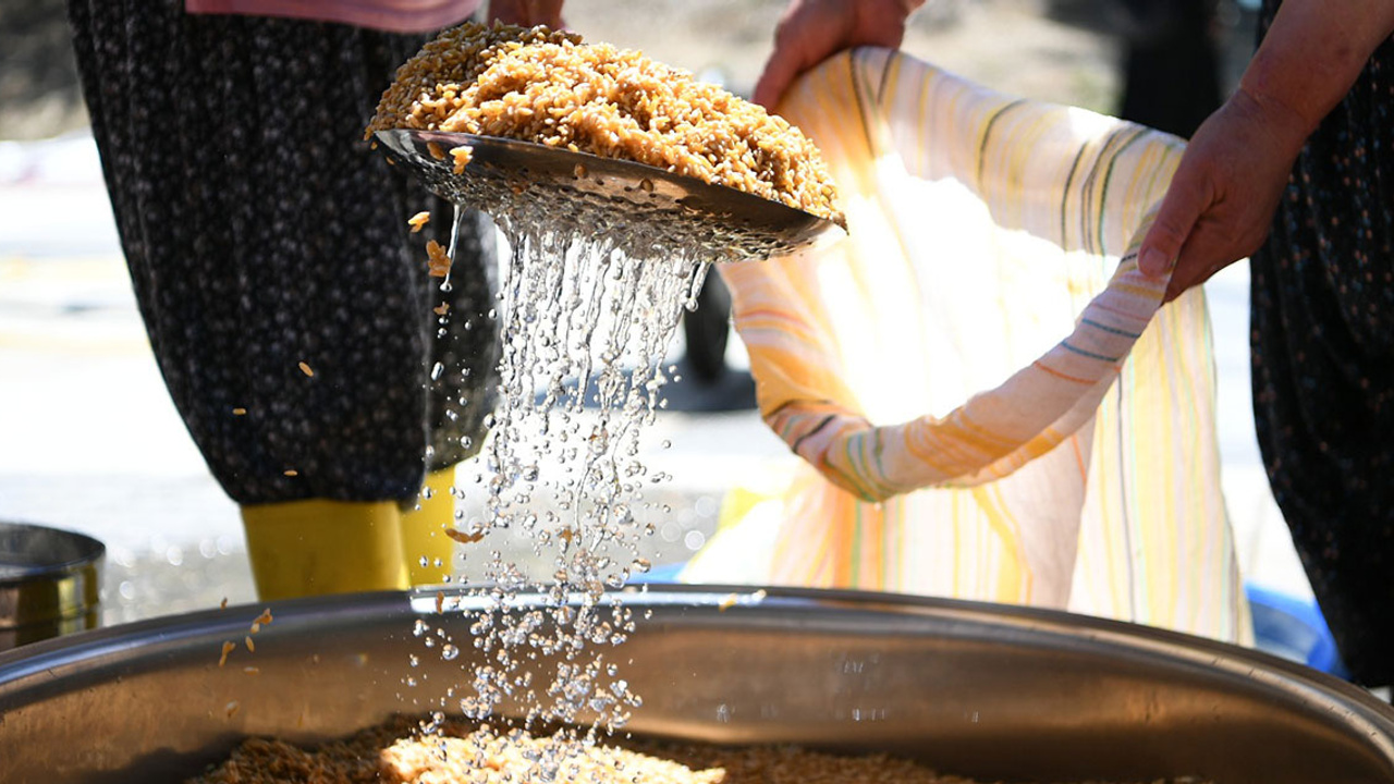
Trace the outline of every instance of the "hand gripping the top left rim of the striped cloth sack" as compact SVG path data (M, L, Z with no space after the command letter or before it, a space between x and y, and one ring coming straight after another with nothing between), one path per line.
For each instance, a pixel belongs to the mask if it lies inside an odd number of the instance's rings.
M774 109L799 74L853 46L899 49L905 20L924 0L792 0L775 28L775 49L756 84L756 103Z

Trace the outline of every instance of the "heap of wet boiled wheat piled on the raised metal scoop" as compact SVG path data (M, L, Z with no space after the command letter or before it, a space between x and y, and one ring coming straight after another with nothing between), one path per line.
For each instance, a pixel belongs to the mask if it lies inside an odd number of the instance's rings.
M467 22L404 63L368 134L505 137L633 160L841 222L818 149L779 116L638 52Z

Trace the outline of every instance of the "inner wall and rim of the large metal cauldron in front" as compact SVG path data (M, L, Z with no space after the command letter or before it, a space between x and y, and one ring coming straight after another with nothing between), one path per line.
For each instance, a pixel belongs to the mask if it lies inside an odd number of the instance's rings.
M988 781L1394 781L1394 711L1273 657L1059 612L882 594L654 587L620 649L634 732L884 751ZM273 604L112 628L0 654L4 781L174 781L247 735L312 741L427 711L435 594ZM421 657L410 667L408 657ZM256 674L244 671L254 665ZM415 678L415 686L407 678Z

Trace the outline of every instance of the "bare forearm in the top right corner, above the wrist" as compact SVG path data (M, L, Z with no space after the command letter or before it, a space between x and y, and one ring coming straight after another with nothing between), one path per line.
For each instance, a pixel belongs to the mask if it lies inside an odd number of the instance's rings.
M1285 0L1239 89L1305 140L1394 32L1394 0Z

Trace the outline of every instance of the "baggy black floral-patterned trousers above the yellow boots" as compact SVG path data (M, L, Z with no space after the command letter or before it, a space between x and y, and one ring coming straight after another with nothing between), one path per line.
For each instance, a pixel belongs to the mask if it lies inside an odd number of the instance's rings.
M362 141L422 39L181 7L70 3L121 246L170 395L240 504L406 501L427 467L478 449L498 350L481 312L492 307L492 229L466 223L442 293L424 244L447 243L449 206ZM431 225L408 234L407 218L428 205ZM452 307L438 339L442 301Z

